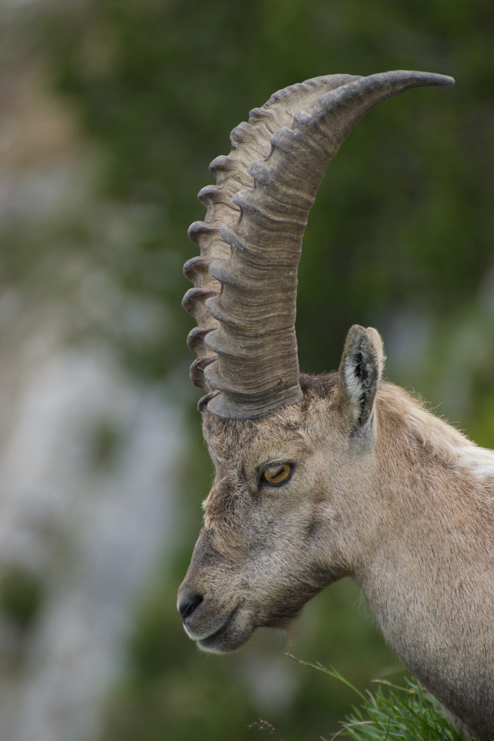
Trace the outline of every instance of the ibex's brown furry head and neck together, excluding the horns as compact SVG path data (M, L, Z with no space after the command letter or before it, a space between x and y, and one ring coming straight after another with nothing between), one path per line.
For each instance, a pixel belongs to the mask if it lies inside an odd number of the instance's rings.
M494 455L379 381L375 330L353 328L339 373L258 419L204 411L216 479L179 595L207 651L287 627L342 576L384 638L478 741L494 737ZM286 483L263 484L288 462Z

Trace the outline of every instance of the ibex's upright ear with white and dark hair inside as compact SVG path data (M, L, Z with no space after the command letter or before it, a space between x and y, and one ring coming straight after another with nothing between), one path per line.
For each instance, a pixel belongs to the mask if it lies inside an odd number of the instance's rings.
M353 325L347 334L338 381L338 408L348 419L352 433L372 424L384 360L378 331Z

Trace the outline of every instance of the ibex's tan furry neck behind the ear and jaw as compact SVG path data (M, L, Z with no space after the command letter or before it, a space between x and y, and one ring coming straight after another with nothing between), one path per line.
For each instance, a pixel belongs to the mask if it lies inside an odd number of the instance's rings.
M494 652L494 454L404 392L390 385L382 392L381 525L355 579L410 671L468 717L478 688L473 681L465 689L465 667L478 682L494 671L486 659ZM489 686L494 708L494 676Z

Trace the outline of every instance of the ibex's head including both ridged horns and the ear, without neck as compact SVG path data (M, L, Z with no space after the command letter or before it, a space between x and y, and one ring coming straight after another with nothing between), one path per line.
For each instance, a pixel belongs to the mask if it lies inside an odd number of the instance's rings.
M359 326L338 373L299 373L297 266L345 137L379 102L436 84L453 80L398 71L281 90L233 130L230 155L210 166L217 185L199 193L207 216L190 227L201 255L185 265L195 288L184 306L198 322L191 378L207 392L199 408L216 479L178 610L207 651L239 648L261 625L287 628L336 579L363 582L364 554L378 550L371 493L383 491L381 428L404 416L401 392L381 382L380 336Z

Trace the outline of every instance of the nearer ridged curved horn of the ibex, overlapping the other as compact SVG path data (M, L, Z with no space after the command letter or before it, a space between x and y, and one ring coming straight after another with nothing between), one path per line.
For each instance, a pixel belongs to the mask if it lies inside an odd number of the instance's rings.
M326 167L379 102L410 87L453 82L441 75L396 71L340 84L303 110L297 107L291 128L279 128L271 136L270 152L247 167L253 185L232 197L240 218L220 227L231 255L213 258L209 265L221 293L216 289L204 301L210 321L217 322L204 336L210 351L204 388L219 391L210 394L208 410L250 418L301 400L297 267L307 216Z

